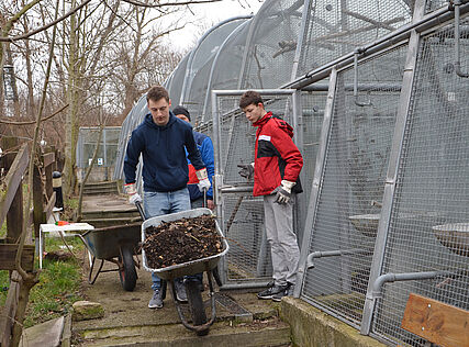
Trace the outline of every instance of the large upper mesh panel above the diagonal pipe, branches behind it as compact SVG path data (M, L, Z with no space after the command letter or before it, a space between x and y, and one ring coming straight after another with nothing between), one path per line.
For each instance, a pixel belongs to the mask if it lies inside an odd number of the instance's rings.
M412 11L405 0L312 0L297 76L409 23Z

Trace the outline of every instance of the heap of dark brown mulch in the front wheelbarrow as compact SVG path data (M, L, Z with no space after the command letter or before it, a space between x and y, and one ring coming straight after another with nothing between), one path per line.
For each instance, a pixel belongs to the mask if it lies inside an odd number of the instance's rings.
M143 248L152 269L210 257L223 250L212 215L161 222L147 227L145 236Z

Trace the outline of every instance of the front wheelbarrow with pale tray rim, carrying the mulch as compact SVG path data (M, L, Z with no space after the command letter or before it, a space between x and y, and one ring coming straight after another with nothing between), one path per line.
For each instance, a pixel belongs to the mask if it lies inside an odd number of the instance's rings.
M198 217L204 214L212 215L212 211L209 209L202 208L202 209L188 210L188 211L165 214L165 215L148 219L142 224L142 242L145 242L146 239L145 231L149 226L158 226L159 224L161 224L161 222L174 222L181 219L192 219L192 217ZM158 275L158 277L161 280L170 283L172 300L176 304L176 310L178 311L178 315L179 315L179 318L181 320L182 325L188 329L196 332L196 334L199 336L206 335L209 333L210 326L215 321L216 311L215 311L215 295L213 290L212 270L215 269L220 258L224 256L230 248L216 221L215 221L215 225L216 225L216 232L223 238L223 250L210 257L204 257L197 260L177 264L166 268L153 269L148 266L145 249L142 249L143 268L147 271L156 272L156 275ZM209 321L206 321L205 309L204 309L202 294L200 292L198 281L188 280L188 281L185 281L185 283L186 283L186 291L188 295L188 302L189 302L189 307L190 307L190 313L192 318L192 324L190 324L189 321L186 318L185 314L182 313L181 304L176 300L176 289L175 289L174 280L176 278L181 278L185 276L190 276L190 275L196 275L201 272L205 272L206 278L209 279L209 289L210 289L209 295L211 300L211 310L212 310L211 317Z

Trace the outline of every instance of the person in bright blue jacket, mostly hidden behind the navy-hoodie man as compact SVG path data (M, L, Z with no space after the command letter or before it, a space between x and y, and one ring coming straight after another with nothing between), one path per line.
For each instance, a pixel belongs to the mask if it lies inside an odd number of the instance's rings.
M189 111L181 105L176 107L172 110L172 113L180 120L186 121L190 123L190 113ZM209 136L205 134L192 131L193 138L196 139L197 147L199 148L200 155L202 156L202 161L205 165L206 172L209 174L209 180L210 183L212 183L212 177L215 175L215 160L214 160L214 154L213 154L213 144L212 139L210 139ZM189 165L189 194L190 194L190 203L192 205L192 209L197 208L208 208L210 210L213 210L215 208L213 203L213 192L212 188L210 188L206 191L206 205L203 205L203 192L199 190L199 187L197 186L199 180L196 176L196 169L193 165L190 163L190 159L188 158L188 165Z

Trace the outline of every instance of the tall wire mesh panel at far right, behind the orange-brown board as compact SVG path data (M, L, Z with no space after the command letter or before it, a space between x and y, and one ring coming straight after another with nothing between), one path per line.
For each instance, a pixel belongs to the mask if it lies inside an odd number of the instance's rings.
M409 293L469 310L469 80L453 68L454 37L450 25L421 42L382 269L448 275L387 283L375 311L373 333L405 346L424 346L400 328ZM469 32L460 40L468 71Z

